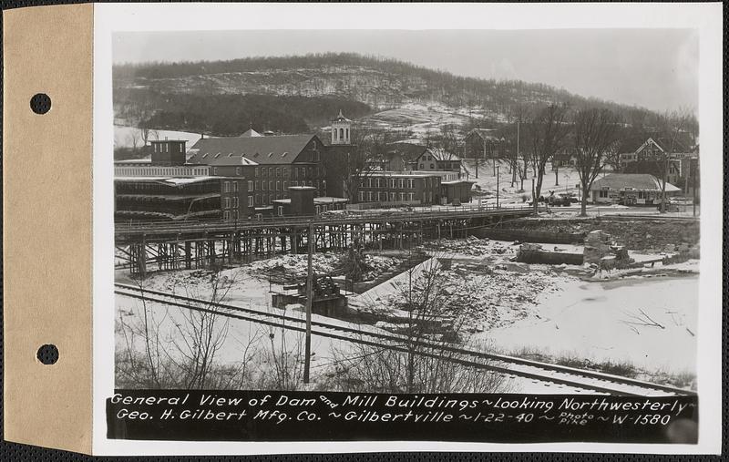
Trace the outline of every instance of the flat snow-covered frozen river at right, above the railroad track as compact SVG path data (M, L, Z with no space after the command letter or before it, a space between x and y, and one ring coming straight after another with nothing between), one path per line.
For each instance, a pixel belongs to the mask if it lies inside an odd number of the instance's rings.
M504 351L527 347L695 372L698 277L570 282L563 289L545 294L534 316L483 335Z

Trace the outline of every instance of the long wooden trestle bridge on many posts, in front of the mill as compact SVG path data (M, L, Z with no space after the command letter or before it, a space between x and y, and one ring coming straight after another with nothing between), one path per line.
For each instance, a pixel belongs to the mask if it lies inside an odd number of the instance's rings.
M365 249L406 250L426 239L462 238L484 227L526 217L531 207L439 207L408 211L349 210L261 220L180 222L118 221L117 269L144 277L154 270L210 268L252 262L281 253Z

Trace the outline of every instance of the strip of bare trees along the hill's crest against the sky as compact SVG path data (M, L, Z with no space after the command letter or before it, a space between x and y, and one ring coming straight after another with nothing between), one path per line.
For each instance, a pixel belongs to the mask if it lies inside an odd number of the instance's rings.
M400 88L403 94L409 92L408 82L424 81L427 87L425 93L417 88L412 88L421 98L430 97L433 100L453 105L480 106L507 116L517 110L515 107L519 105L531 106L549 102L564 103L572 107L609 108L623 119L644 118L652 114L651 111L644 108L629 107L597 98L584 98L545 84L520 80L459 77L449 72L420 67L397 59L354 53L256 56L227 61L126 64L115 66L113 73L115 82L129 84L139 82L139 80L323 67L374 68L385 75L399 77L405 86ZM376 91L377 88L373 87L371 90Z

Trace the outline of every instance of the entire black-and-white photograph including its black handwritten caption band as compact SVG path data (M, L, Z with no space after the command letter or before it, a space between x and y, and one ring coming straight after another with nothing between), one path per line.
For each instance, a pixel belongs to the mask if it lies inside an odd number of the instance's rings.
M109 437L696 444L699 45L115 31Z

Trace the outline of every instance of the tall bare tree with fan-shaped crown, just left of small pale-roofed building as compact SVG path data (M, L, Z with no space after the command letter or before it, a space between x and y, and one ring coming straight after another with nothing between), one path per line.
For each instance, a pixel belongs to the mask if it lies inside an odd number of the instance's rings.
M580 215L587 216L587 198L592 183L617 151L619 119L610 109L585 108L574 117L572 153L580 177Z

